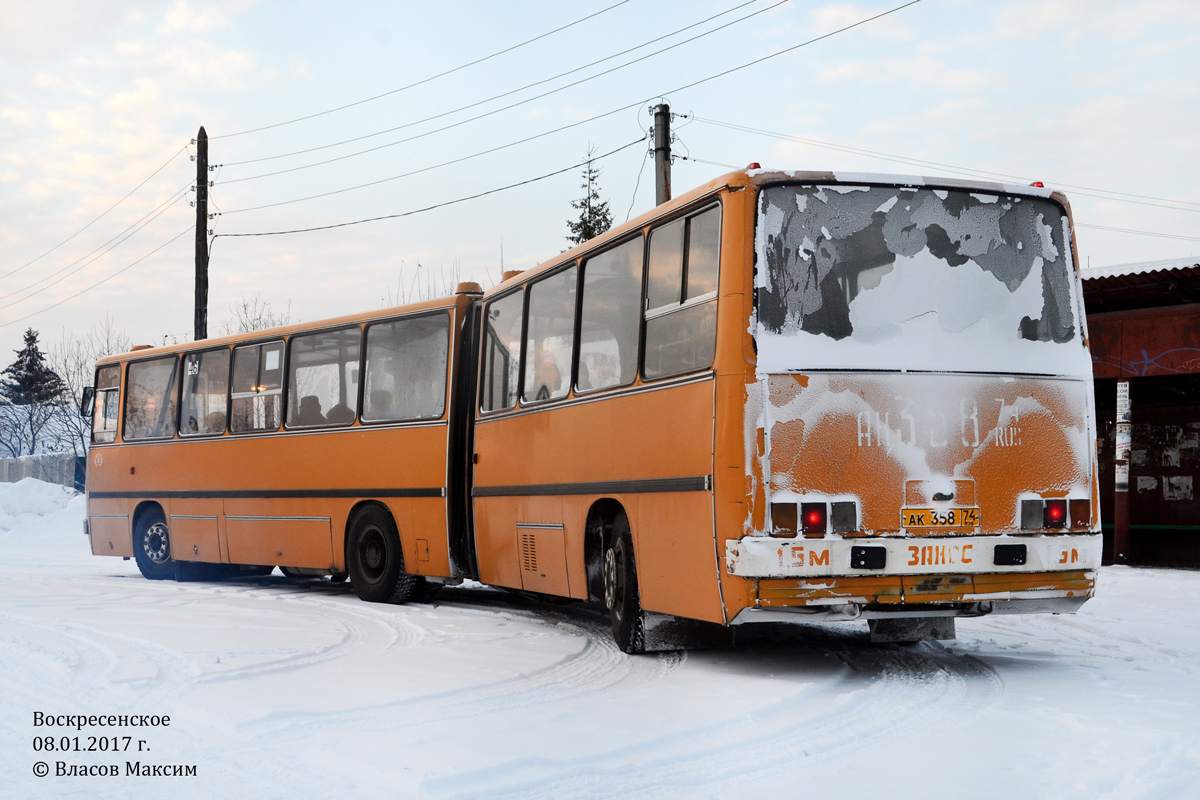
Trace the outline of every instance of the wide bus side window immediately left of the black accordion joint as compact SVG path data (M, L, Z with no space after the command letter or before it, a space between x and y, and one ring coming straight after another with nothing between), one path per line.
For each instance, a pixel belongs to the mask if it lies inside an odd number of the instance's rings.
M367 327L362 420L438 419L445 410L450 317L434 314Z

